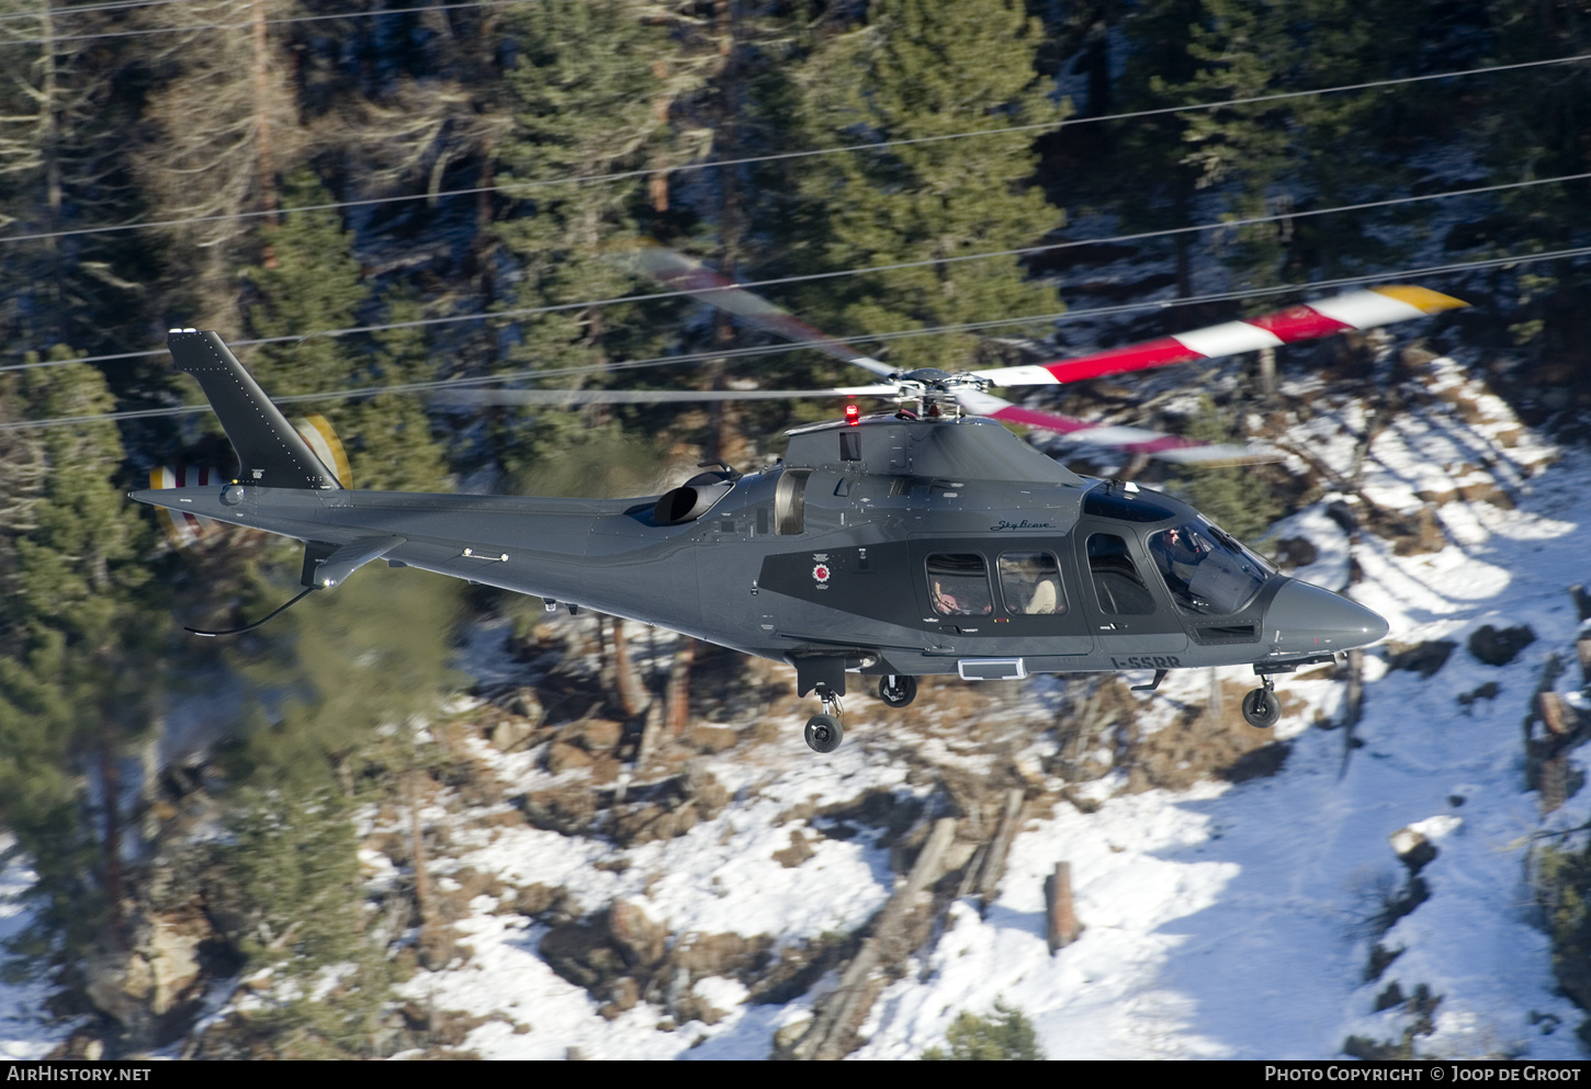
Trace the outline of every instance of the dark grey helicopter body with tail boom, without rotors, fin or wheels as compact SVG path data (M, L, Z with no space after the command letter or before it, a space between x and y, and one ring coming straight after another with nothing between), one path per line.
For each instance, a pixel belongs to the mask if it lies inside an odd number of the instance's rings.
M818 660L827 663L821 669L969 679L1286 669L1386 634L1376 614L1276 574L1192 507L1079 477L977 417L816 424L792 431L786 458L770 469L702 474L665 496L635 499L247 480L134 498L305 541L305 585L315 556L350 571L383 558L797 669ZM1217 550L1238 556L1247 574L1231 574L1238 590L1225 604L1219 593L1204 595L1216 606L1179 601L1169 574L1160 576L1155 534L1173 526L1203 526L1230 542ZM1053 604L1037 610L1018 599L1028 596L1013 588L1018 569L1053 579ZM947 607L936 571L963 572L963 582L982 571L986 598Z

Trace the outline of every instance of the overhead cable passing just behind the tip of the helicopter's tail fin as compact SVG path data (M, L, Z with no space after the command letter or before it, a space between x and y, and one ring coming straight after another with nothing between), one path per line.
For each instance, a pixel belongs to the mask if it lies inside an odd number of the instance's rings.
M959 264L959 262L966 262L966 261L986 261L986 259L991 259L991 258L1010 258L1010 256L1028 258L1028 256L1034 256L1034 254L1039 254L1039 253L1052 253L1052 251L1056 251L1056 250L1071 250L1071 248L1076 248L1076 246L1098 246L1098 245L1111 245L1111 243L1118 243L1118 242L1146 242L1146 240L1150 240L1150 238L1168 238L1168 237L1182 235L1182 234L1198 234L1198 232L1203 232L1203 231L1233 231L1233 229L1238 229L1238 227L1252 227L1252 226L1258 226L1258 224L1265 224L1265 223L1279 223L1279 221L1284 221L1284 219L1308 219L1308 218L1313 218L1313 216L1335 215L1335 213L1340 213L1340 211L1362 211L1362 210L1367 210L1367 208L1386 208L1386 207L1392 207L1392 205L1418 203L1418 202L1422 202L1422 200L1441 200L1441 199L1446 199L1446 197L1467 197L1467 196L1484 194L1484 192L1502 192L1502 191L1507 191L1507 189L1524 189L1524 188L1531 188L1531 186L1554 184L1554 183L1562 183L1562 181L1583 181L1583 180L1591 180L1591 172L1559 175L1556 178L1532 178L1529 181L1505 181L1505 183L1491 184L1491 186L1473 186L1470 189L1449 189L1448 192L1426 192L1426 194L1421 194L1421 196L1416 196L1416 197L1391 197L1387 200L1365 200L1365 202L1360 202L1360 203L1336 205L1336 207L1332 207L1332 208L1308 208L1308 210L1303 210L1303 211L1297 211L1295 210L1295 211L1278 213L1278 215L1270 215L1270 216L1249 216L1249 218L1244 218L1244 219L1223 219L1220 223L1204 223L1204 224L1196 224L1196 226L1192 226L1192 227L1166 227L1166 229L1161 229L1161 231L1139 231L1139 232L1134 232L1134 234L1118 234L1118 235L1109 235L1109 237L1103 237L1103 238L1074 238L1074 240L1069 240L1069 242L1050 242L1050 243L1044 243L1044 245L1037 245L1037 246L1021 246L1021 248L1017 248L1017 250L991 250L991 251L985 251L985 253L964 253L964 254L958 254L958 256L951 256L951 258L928 258L928 259L923 259L923 261L904 261L904 262L894 262L894 264L885 264L885 265L864 265L864 267L856 267L856 269L838 269L838 270L831 270L831 272L810 272L810 273L796 275L796 277L778 277L778 278L773 278L773 280L751 280L748 283L738 283L738 285L733 285L733 286L735 288L772 288L772 286L789 285L789 283L805 283L805 281L811 281L811 280L834 280L834 278L840 278L840 277L858 277L858 275L867 275L867 273L873 273L873 272L897 272L897 270L902 270L902 269L921 269L921 267L940 265L940 264ZM727 289L727 288L718 288L718 289L722 291L722 289ZM706 291L713 291L713 288L708 288ZM501 318L528 318L528 316L535 316L535 315L539 315L539 313L557 313L557 312L563 312L563 310L584 310L585 307L606 307L606 305L619 305L619 304L625 304L625 302L652 302L652 300L657 300L657 299L676 299L676 297L690 296L690 294L702 294L702 293L697 291L697 289L692 289L692 291L651 291L651 293L646 293L646 294L617 296L617 297L613 297L613 299L587 299L584 302L562 302L562 304L554 304L554 305L547 305L547 307L523 307L523 308L515 308L515 310L495 310L495 312L490 312L490 313L453 313L453 315L444 315L444 316L439 316L439 318L417 318L414 321L393 321L393 323L380 323L380 324L368 324L368 326L352 326L352 327L347 327L347 329L321 329L321 331L317 331L317 332L307 332L307 334L298 334L298 335L288 335L288 337L261 337L261 339L256 339L256 340L237 340L234 343L235 343L235 347L255 347L255 345L263 345L263 343L290 343L290 342L305 340L309 337L344 337L344 335L352 335L352 334L360 334L360 332L387 332L390 329L417 329L417 327L423 327L423 326L457 324L460 321L488 321L488 320L501 320ZM123 353L103 355L103 356L78 356L78 358L73 358L73 359L41 359L38 362L13 362L13 364L0 366L0 372L5 372L5 370L30 370L30 369L35 369L35 367L60 367L60 366L65 366L68 362L115 362L115 361L119 361L119 359L142 359L142 358L148 358L148 356L162 355L164 351L165 351L164 348L151 348L148 351L123 351Z

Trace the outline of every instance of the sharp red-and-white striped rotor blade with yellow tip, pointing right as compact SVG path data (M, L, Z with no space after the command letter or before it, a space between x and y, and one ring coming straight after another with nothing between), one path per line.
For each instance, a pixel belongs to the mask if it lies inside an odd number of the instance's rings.
M1467 305L1470 304L1426 288L1389 285L1367 291L1351 291L1332 299L1321 299L1319 302L1266 313L1258 318L1225 321L1208 329L1179 332L1173 337L1160 337L1158 340L1144 340L1125 348L1111 348L1087 356L1055 359L1053 362L1039 362L1025 367L974 370L974 374L991 380L998 386L1080 382L1082 378L1099 378L1128 370L1165 367L1173 362L1236 356L1244 351L1274 348L1282 343L1330 337L1349 329L1373 329L1392 324L1394 321L1424 318L1426 315Z

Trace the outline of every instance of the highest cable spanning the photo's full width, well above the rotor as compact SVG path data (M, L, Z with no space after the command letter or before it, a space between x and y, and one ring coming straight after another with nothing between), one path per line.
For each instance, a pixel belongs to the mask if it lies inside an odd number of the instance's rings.
M485 3L487 0L480 0L480 2ZM465 5L465 6L468 6L468 5ZM391 13L383 13L383 14L391 14ZM5 43L0 43L0 45L5 45ZM70 229L70 231L38 231L38 232L30 232L30 234L11 234L11 235L0 235L0 245L8 243L8 242L40 242L40 240L45 240L45 238L72 238L72 237L92 235L92 234L115 234L115 232L121 232L121 231L154 231L154 229L161 229L161 227L183 227L183 226L193 226L193 224L199 224L199 223L228 223L228 221L235 221L235 219L261 219L261 218L266 218L266 216L286 216L286 215L293 215L293 213L298 213L298 211L328 211L328 210L336 210L336 208L366 208L366 207L385 205L385 203L403 203L403 202L407 202L407 200L439 200L442 197L469 197L469 196L480 196L482 192L504 192L504 194L512 194L512 192L520 192L520 191L546 189L549 186L590 184L590 183L597 183L597 181L624 181L624 180L630 180L630 178L646 178L646 176L657 175L657 173L690 173L690 172L697 172L697 170L713 170L713 169L718 169L718 167L743 167L743 165L753 165L753 164L759 164L759 162L781 162L781 161L786 161L786 159L808 159L808 157L815 157L815 156L843 154L843 153L851 153L851 151L877 151L877 149L883 149L883 148L904 148L904 146L908 146L908 145L921 145L921 143L942 143L942 141L947 141L947 140L966 140L966 138L974 138L974 137L998 137L998 135L1006 135L1006 134L1013 134L1013 132L1034 132L1034 130L1041 130L1041 129L1058 129L1058 127L1063 127L1063 126L1098 124L1101 121L1131 121L1134 118L1150 118L1150 116L1158 116L1158 114L1166 114L1166 113L1192 113L1192 111L1198 111L1198 110L1220 110L1223 107L1244 107L1244 105L1255 105L1255 103L1265 103L1265 102L1279 102L1279 100L1284 100L1284 99L1301 99L1301 97L1317 95L1317 94L1338 94L1338 92L1343 92L1343 91L1365 91L1365 89L1370 89L1370 87L1389 87L1389 86L1397 86L1397 84L1405 84L1405 83L1424 83L1424 81L1429 81L1429 79L1449 79L1449 78L1459 78L1459 76L1486 75L1486 73L1491 73L1491 72L1513 72L1513 70L1518 70L1518 68L1538 68L1538 67L1543 67L1543 65L1577 64L1577 62L1581 62L1581 60L1591 60L1591 52L1578 54L1578 56L1573 56L1573 57L1551 57L1551 59L1546 59L1546 60L1526 60L1526 62L1521 62L1521 64L1494 65L1494 67L1489 67L1489 68L1464 68L1464 70L1454 70L1454 72L1438 72L1438 73L1424 75L1424 76L1403 76L1403 78L1398 78L1398 79L1378 79L1378 81L1373 81L1373 83L1351 83L1351 84L1343 84L1343 86L1338 86L1338 87L1321 87L1317 91L1287 91L1287 92L1281 92L1281 94L1258 95L1258 97L1252 97L1252 99L1225 99L1225 100L1217 100L1217 102L1196 102L1196 103L1188 103L1188 105L1182 105L1182 107L1161 107L1161 108L1155 108L1155 110L1133 110L1133 111L1128 111L1128 113L1112 113L1112 114L1104 114L1104 116L1096 116L1096 118L1068 118L1066 121L1045 121L1045 122L1037 122L1037 124L1029 124L1029 126L1010 126L1010 127L1006 127L1006 129L969 129L966 132L948 132L948 134L942 134L942 135L937 135L937 137L913 137L913 138L908 138L908 140L875 140L875 141L870 141L870 143L848 143L848 145L842 145L838 148L811 148L811 149L807 149L807 151L778 151L778 153L762 154L762 156L743 156L743 157L738 157L738 159L713 159L713 161L708 161L708 162L687 162L687 164L679 164L679 165L673 165L673 167L648 167L648 169L638 169L638 170L614 170L614 172L609 172L609 173L571 175L571 176L566 176L566 178L546 178L546 180L528 180L528 181L504 181L504 183L490 184L490 186L469 186L469 188L465 188L465 189L439 189L436 192L409 192L409 194L398 194L398 196L388 196L388 197L361 197L358 200L333 200L333 202L328 202L328 203L296 205L293 208L270 208L270 210L258 210L258 211L229 211L229 213L212 215L212 216L181 216L181 218L177 218L177 219L151 219L151 221L118 223L118 224L110 224L110 226L103 226L103 227L75 227L75 229Z

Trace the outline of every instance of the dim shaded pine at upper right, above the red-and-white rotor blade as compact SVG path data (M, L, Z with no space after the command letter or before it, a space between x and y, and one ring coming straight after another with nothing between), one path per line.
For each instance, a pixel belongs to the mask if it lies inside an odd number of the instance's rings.
M1166 30L1176 22L1184 22L1185 32L1169 37ZM1147 76L1149 92L1134 103L1139 108L1262 99L1410 75L1422 62L1419 45L1427 37L1418 13L1340 0L1160 0L1128 25L1163 65L1155 72L1147 57L1130 65L1134 78ZM1406 191L1403 164L1418 141L1411 134L1424 132L1432 113L1424 94L1405 87L1190 110L1174 122L1153 122L1136 146L1144 148L1153 134L1155 157L1179 157L1177 169L1161 175L1174 180L1169 226L1187 226L1188 181L1219 194L1225 218L1286 216ZM1394 254L1373 227L1400 215L1282 218L1203 242L1222 245L1244 283L1270 286L1384 264Z

